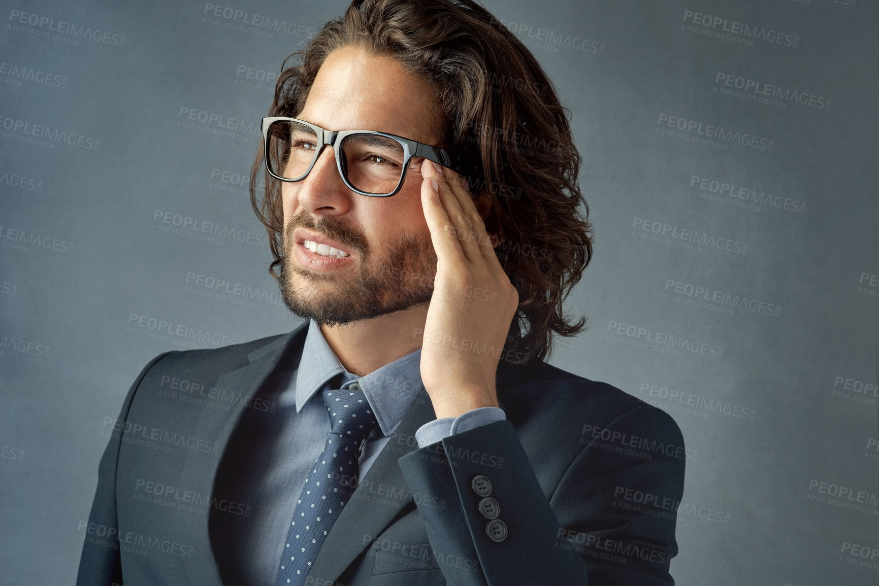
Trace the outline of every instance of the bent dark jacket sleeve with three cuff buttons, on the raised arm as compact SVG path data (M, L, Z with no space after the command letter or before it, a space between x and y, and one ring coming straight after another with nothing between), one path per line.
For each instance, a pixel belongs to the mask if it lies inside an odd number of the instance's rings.
M418 506L434 554L478 561L481 572L466 581L440 563L448 583L674 584L669 564L678 553L686 455L677 424L641 404L588 431L548 496L509 421L448 436L398 460L413 493L454 505ZM539 441L551 451L559 438L546 430Z

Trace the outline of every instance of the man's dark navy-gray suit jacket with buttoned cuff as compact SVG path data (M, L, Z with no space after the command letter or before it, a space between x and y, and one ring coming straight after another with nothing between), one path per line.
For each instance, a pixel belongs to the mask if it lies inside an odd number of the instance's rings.
M243 409L265 409L258 391L274 367L298 363L306 325L238 346L165 352L143 368L107 425L114 431L77 586L224 583L223 519L248 511L223 498L217 471ZM198 395L215 401L172 400L171 380L178 390L204 385ZM413 403L307 584L674 583L688 451L672 418L543 362L501 361L497 387L506 421L421 449L415 431L435 415L429 401ZM156 486L167 478L177 485ZM495 513L480 510L485 481L506 526L499 541L486 532Z

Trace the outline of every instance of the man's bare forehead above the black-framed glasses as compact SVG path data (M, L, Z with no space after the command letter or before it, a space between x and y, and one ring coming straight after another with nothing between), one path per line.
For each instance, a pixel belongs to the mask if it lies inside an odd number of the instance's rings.
M298 117L328 130L380 130L437 146L443 134L431 86L393 57L360 47L327 56Z

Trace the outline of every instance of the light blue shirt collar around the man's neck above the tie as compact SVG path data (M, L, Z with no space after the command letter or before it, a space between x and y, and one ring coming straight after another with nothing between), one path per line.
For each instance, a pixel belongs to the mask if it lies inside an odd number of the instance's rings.
M425 387L421 383L420 348L358 378L356 374L346 371L345 366L338 361L317 322L309 322L309 333L302 346L300 368L296 373L297 413L328 380L339 373L345 373L347 382L343 385L352 380L357 380L360 384L360 389L367 395L369 406L378 419L381 433L386 437L403 421L412 402L419 398L422 401L427 400Z

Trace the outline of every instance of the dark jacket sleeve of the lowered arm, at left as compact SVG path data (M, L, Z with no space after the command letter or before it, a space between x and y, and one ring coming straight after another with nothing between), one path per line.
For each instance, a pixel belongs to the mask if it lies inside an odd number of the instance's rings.
M128 409L134 399L141 380L159 360L174 351L163 352L149 361L134 384L128 389L125 401L122 402L117 422L124 425L128 417ZM98 488L91 503L89 521L80 530L85 533L83 553L79 559L79 572L76 575L76 586L115 586L122 584L122 564L119 551L119 526L116 519L116 464L119 461L122 433L116 432L116 425L110 434L110 441L104 450L98 465Z

